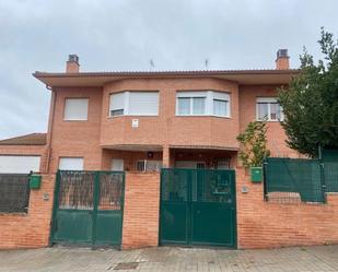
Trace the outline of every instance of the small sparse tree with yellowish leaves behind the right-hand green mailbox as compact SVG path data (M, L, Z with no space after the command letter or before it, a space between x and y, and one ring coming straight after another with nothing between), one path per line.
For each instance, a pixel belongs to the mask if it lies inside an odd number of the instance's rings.
M237 141L241 143L238 156L244 167L263 166L264 158L270 155L266 134L266 121L253 121L237 137Z

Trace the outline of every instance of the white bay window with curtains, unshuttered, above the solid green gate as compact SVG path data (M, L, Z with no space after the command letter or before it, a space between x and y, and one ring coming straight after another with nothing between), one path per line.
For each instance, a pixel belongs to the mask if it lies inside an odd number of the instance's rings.
M176 115L230 117L230 95L222 92L177 92Z

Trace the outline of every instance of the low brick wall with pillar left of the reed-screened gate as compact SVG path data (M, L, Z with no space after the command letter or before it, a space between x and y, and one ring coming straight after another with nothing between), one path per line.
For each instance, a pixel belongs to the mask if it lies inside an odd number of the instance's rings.
M0 213L0 249L48 245L55 175L43 175L42 188L31 190L27 214Z

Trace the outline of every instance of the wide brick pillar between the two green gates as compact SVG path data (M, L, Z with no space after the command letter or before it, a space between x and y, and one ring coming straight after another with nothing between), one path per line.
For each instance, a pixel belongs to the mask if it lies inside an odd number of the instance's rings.
M127 173L123 248L158 246L160 175Z

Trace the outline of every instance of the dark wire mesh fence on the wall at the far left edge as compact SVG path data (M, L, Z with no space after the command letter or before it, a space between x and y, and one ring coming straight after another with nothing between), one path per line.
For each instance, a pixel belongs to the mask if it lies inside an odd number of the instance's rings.
M28 175L0 174L0 212L27 213L28 202Z

